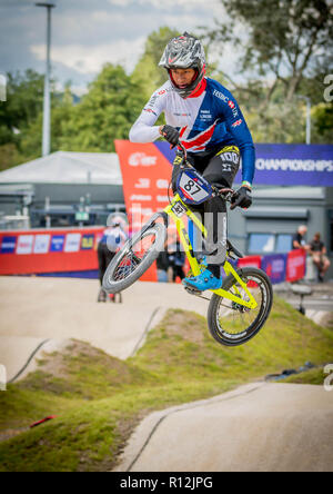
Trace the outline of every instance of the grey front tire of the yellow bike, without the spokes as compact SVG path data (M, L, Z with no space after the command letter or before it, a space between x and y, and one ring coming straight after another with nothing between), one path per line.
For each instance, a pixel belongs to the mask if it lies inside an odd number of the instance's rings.
M120 265L127 254L133 253L135 245L138 245L143 238L149 235L155 236L155 241L153 246L149 249L148 254L141 259L140 264L123 279L114 279L114 275L118 273ZM134 237L125 243L123 248L113 257L109 264L104 277L103 277L103 288L108 294L118 294L129 288L133 283L135 283L141 276L150 268L153 261L158 258L161 250L164 248L164 243L167 238L167 228L163 224L157 223L154 225L145 227L140 233L135 234ZM138 258L138 257L137 257Z

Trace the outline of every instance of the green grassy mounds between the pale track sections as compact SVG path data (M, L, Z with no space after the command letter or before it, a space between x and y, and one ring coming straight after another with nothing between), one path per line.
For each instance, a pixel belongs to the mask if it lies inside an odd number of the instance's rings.
M125 362L73 340L0 393L0 471L111 470L150 412L214 396L306 360L333 362L333 333L279 298L264 329L240 347L220 346L203 317L183 310L169 310ZM29 428L48 415L57 417Z

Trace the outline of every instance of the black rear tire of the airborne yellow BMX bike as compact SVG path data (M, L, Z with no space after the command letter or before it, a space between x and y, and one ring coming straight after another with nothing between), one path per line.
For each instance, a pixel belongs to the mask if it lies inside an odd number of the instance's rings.
M252 281L256 285L256 287L260 289L260 306L256 309L243 309L242 307L233 308L236 306L236 304L232 303L230 307L228 307L229 312L232 313L245 313L250 314L252 310L252 314L255 316L256 310L258 314L255 318L249 324L248 327L245 327L241 333L230 333L229 330L225 330L225 327L236 327L236 323L231 322L226 324L226 318L223 323L223 318L220 318L220 307L222 302L224 300L223 297L220 297L219 295L214 294L211 298L209 309L208 309L208 326L211 335L213 338L220 343L221 345L225 346L238 346L243 345L244 343L249 342L251 338L253 338L260 329L265 324L271 309L273 305L273 288L270 278L268 275L262 270L258 269L255 267L244 267L242 269L238 270L238 275L243 280ZM228 276L222 285L222 289L225 292L230 292L233 286L238 285L236 279L230 275ZM258 289L255 288L255 289ZM223 306L224 307L224 306ZM254 312L255 310L255 312ZM224 308L225 312L225 308ZM240 317L241 318L241 317ZM220 320L221 319L221 320ZM246 323L245 323L246 324ZM223 329L224 325L224 329Z

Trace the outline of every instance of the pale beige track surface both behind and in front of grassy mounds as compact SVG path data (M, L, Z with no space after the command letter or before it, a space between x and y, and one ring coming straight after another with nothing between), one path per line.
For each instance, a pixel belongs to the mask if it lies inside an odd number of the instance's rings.
M0 364L8 379L41 343L52 352L78 338L127 358L168 307L206 314L208 303L180 285L135 284L122 305L97 304L98 288L93 280L0 278ZM332 458L333 392L256 383L150 415L118 470L332 472Z

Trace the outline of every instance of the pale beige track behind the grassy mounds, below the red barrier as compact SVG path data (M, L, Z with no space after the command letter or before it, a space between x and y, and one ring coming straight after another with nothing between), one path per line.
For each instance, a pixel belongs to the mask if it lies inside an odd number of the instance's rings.
M97 280L0 277L0 364L7 367L8 381L40 345L46 349L48 339L53 349L77 338L125 359L169 307L203 316L208 309L206 300L178 284L138 281L123 292L123 304L98 304L98 292Z

